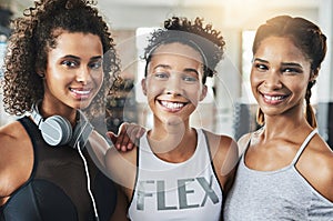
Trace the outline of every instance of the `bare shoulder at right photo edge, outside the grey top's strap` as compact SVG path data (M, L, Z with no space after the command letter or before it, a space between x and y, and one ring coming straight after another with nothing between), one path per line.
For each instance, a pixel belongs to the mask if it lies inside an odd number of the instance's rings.
M311 140L297 164L314 189L333 202L333 151L319 134Z

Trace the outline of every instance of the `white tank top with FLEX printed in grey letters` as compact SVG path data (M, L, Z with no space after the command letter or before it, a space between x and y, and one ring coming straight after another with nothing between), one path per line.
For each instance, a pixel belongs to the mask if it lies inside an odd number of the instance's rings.
M159 159L147 133L138 150L135 189L129 208L133 221L214 221L221 217L222 189L212 168L206 139L196 129L193 155L181 163Z

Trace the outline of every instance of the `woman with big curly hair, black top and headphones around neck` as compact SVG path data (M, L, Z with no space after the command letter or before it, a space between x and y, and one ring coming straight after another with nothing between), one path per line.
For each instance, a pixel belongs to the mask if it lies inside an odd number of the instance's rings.
M80 111L100 113L120 70L94 3L34 1L13 21L4 64L7 112L31 115L0 128L0 220L110 220L117 192L88 154L99 135Z

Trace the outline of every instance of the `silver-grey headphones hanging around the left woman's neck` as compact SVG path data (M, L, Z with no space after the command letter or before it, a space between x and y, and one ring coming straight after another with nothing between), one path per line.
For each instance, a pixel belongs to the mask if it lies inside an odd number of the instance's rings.
M61 115L52 115L43 119L39 113L38 103L34 103L32 107L31 118L38 125L48 144L52 147L69 144L72 148L83 148L93 127L80 110L78 110L77 114L78 122L74 129L72 129L70 122Z

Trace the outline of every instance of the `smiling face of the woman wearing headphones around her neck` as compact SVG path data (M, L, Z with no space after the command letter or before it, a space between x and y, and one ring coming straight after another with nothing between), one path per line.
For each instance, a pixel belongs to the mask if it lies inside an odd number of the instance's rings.
M48 53L47 71L40 73L46 79L44 97L49 98L44 106L59 100L75 109L87 108L102 86L102 57L98 36L63 31L58 37L57 48Z

